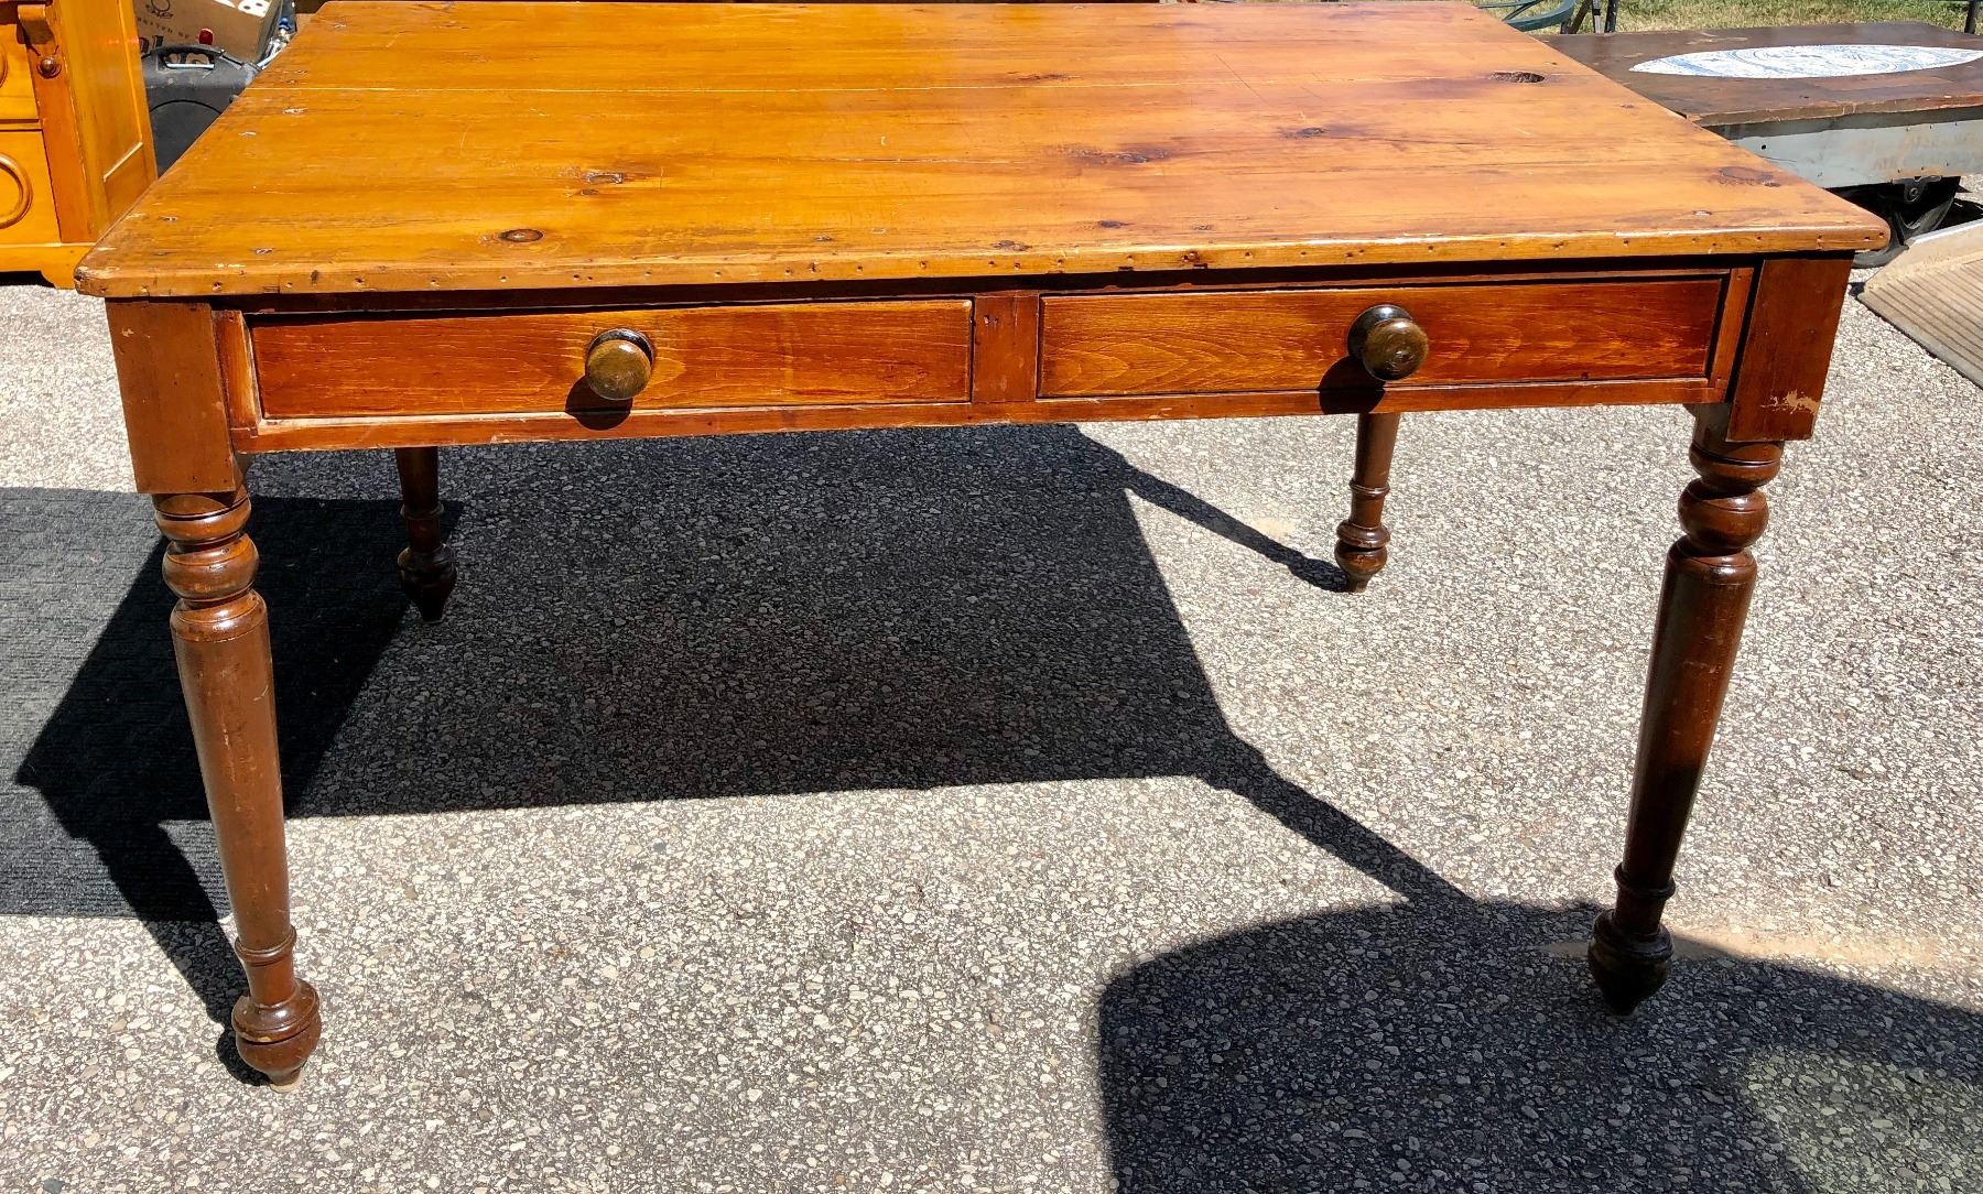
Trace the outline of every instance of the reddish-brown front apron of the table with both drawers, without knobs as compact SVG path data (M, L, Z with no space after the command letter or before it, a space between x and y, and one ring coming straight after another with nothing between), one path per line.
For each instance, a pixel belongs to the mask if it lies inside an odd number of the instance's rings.
M248 452L763 430L1719 403L1755 270L1370 284L982 290L740 303L222 311ZM545 296L535 296L539 301ZM522 299L520 299L522 301ZM1378 385L1348 325L1394 303L1432 349ZM595 395L591 337L654 375Z

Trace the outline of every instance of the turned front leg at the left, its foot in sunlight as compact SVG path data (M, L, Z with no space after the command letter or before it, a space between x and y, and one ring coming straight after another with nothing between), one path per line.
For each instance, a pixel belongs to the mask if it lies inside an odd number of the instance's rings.
M295 976L290 863L268 607L254 591L256 549L242 530L248 492L153 498L167 537L165 583L178 595L173 649L192 744L234 904L234 954L248 994L234 1004L234 1047L278 1087L293 1085L317 1045L317 992Z

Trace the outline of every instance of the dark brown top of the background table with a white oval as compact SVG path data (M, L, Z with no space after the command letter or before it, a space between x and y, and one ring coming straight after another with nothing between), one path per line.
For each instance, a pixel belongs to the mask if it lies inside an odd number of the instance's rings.
M1763 46L1935 46L1983 50L1983 38L1912 20L1761 30L1668 30L1571 34L1551 44L1646 99L1697 125L1836 119L1858 113L1983 107L1983 60L1933 69L1822 79L1713 79L1656 75L1632 67L1654 58Z

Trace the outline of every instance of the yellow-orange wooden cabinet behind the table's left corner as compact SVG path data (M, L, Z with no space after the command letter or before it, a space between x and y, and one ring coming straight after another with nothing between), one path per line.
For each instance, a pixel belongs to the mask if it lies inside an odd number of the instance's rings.
M131 2L0 0L0 274L73 286L155 175Z

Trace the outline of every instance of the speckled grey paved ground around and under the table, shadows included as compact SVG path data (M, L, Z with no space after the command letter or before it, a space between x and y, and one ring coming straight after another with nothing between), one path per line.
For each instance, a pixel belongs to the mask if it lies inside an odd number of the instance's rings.
M1979 393L1856 303L1672 906L1608 898L1676 411L256 466L301 966L236 992L89 299L0 288L0 1186L1983 1190Z

